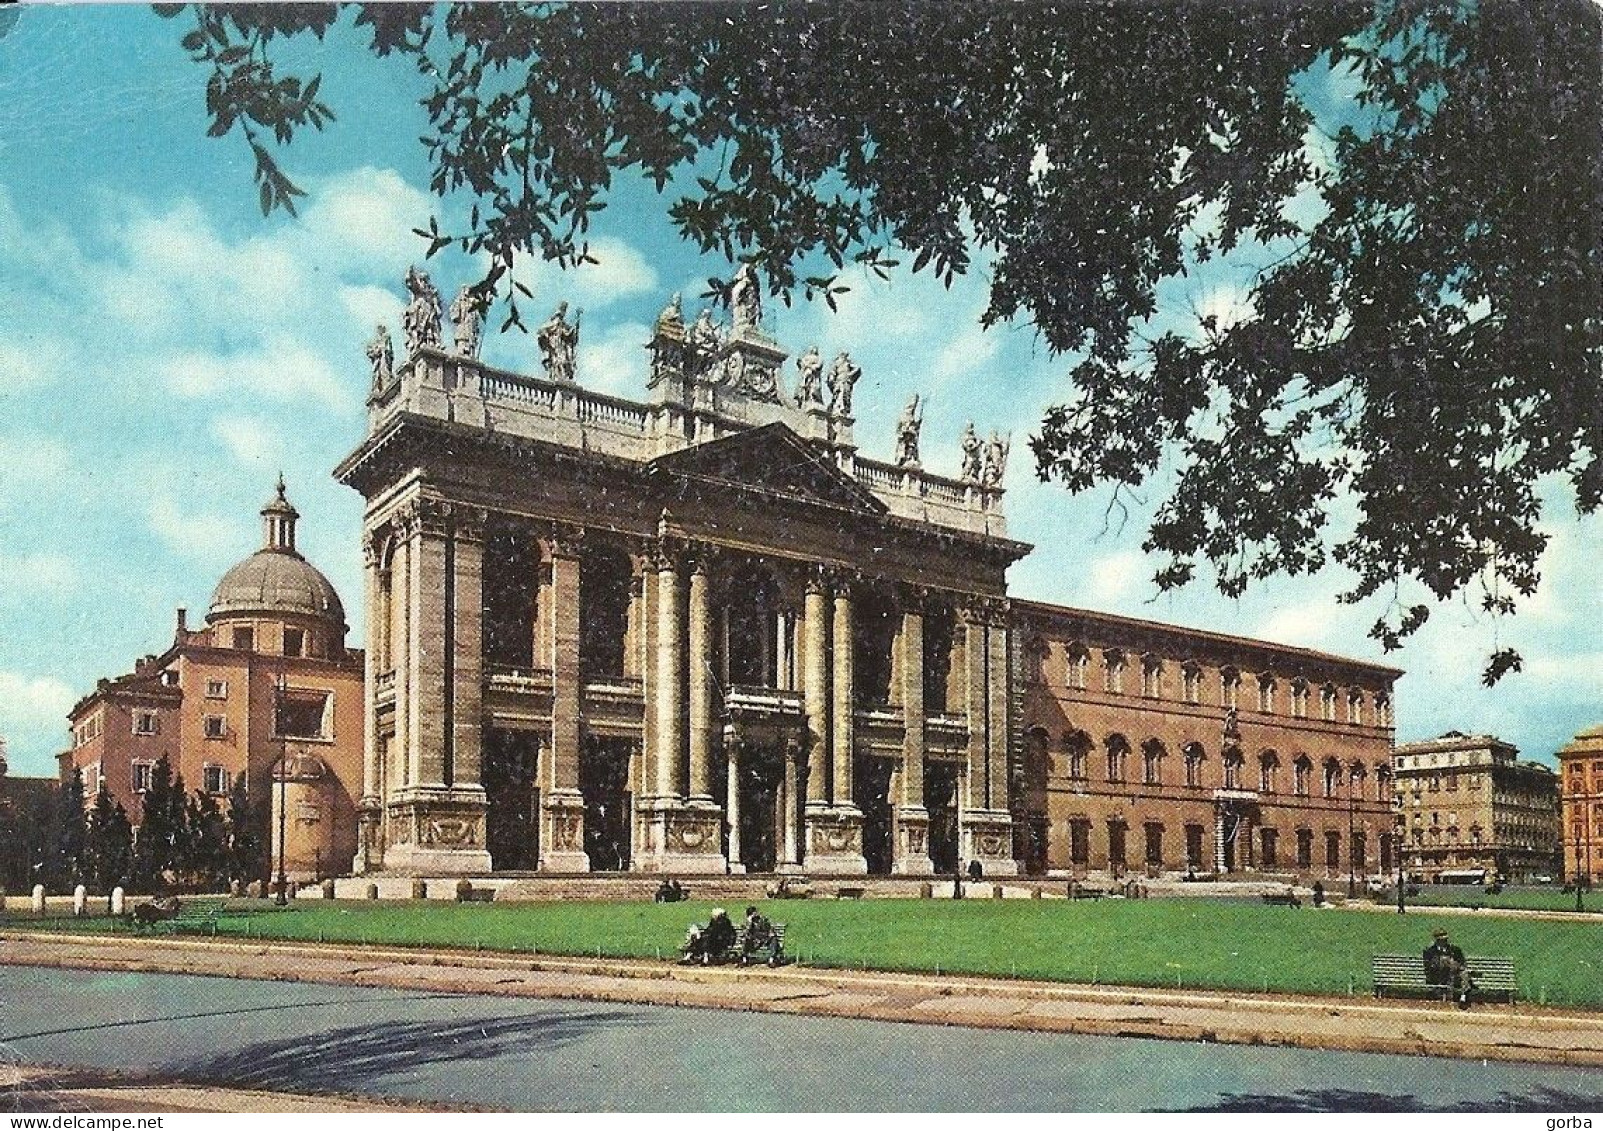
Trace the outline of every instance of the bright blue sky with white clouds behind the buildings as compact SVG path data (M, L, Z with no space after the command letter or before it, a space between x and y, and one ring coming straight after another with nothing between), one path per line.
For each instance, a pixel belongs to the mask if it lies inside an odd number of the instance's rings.
M289 154L308 191L301 216L263 219L244 144L204 136L204 74L178 48L180 22L143 5L29 6L0 21L14 21L0 38L0 735L13 772L50 774L72 702L162 650L176 606L200 620L216 578L260 545L256 511L279 469L301 548L361 644L361 500L330 469L361 439L362 346L375 322L398 324L402 274L425 252L410 229L434 202L414 75L343 35L297 48L324 70L338 120ZM580 380L638 394L640 344L668 293L694 311L707 276L729 266L680 244L643 184L622 186L595 237L598 266L524 272L531 314L583 308ZM452 255L428 269L447 301L476 277ZM1161 317L1185 322L1228 316L1241 290L1223 264L1164 296ZM1239 601L1205 582L1159 598L1157 562L1140 549L1151 492L1119 522L1108 493L1034 481L1026 436L1064 396L1069 365L1028 327L981 332L984 301L983 263L949 292L930 277L864 277L838 312L779 308L774 330L793 352L853 352L869 455L891 453L914 391L930 397L923 455L936 471L955 473L967 420L1011 429L1008 517L1037 546L1011 574L1016 594L1395 663L1409 673L1399 740L1496 732L1547 759L1603 721L1603 525L1577 519L1563 490L1548 490L1545 578L1518 617L1438 606L1391 657L1366 638L1382 609L1339 606L1347 578L1334 567ZM492 335L486 357L535 368L519 333ZM1500 646L1521 649L1526 670L1484 690L1483 657Z

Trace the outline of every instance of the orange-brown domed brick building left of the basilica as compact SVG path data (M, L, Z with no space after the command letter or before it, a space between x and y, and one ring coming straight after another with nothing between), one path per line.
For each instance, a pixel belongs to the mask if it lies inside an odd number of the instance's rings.
M58 764L63 780L83 774L87 804L104 787L136 827L162 756L224 811L244 775L274 867L282 764L285 871L305 881L345 873L356 854L364 700L362 652L345 646L338 593L295 548L298 519L281 479L261 509L261 549L218 582L205 626L180 609L165 652L79 700Z

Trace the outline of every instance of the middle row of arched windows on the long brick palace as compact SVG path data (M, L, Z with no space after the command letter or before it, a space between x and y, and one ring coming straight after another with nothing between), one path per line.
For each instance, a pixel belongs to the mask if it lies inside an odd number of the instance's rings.
M1036 742L1044 743L1045 735L1036 731ZM1087 763L1095 750L1095 743L1090 735L1084 731L1076 731L1063 739L1063 759L1064 769L1069 779L1085 780L1087 779ZM1181 766L1185 771L1185 785L1188 788L1202 788L1209 785L1204 782L1204 766L1207 764L1207 751L1202 743L1191 742L1181 748ZM1103 742L1101 761L1106 772L1108 782L1129 782L1130 769L1135 759L1135 751L1132 750L1129 740L1122 734L1108 735ZM1141 783L1143 785L1165 785L1164 766L1169 761L1169 750L1162 742L1149 739L1141 743L1140 751L1140 767L1141 767ZM1273 750L1265 750L1258 755L1254 769L1257 771L1257 782L1252 782L1247 772L1246 755L1239 748L1230 747L1225 750L1225 756L1220 759L1221 779L1218 785L1226 790L1249 790L1257 788L1260 793L1279 793L1282 780L1281 756ZM1292 793L1305 798L1310 796L1314 783L1318 783L1321 796L1335 798L1345 796L1343 787L1350 787L1355 798L1364 796L1364 783L1371 777L1369 771L1363 763L1351 763L1343 766L1335 758L1327 758L1316 767L1308 755L1298 755L1292 759L1290 766L1290 785ZM1390 801L1391 799L1391 769L1390 766L1377 766L1374 769L1375 779L1375 799Z

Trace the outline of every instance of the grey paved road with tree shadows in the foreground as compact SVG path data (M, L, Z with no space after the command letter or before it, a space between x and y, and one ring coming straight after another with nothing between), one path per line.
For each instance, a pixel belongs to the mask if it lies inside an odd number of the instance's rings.
M0 1053L540 1110L1598 1110L1603 1070L0 968Z

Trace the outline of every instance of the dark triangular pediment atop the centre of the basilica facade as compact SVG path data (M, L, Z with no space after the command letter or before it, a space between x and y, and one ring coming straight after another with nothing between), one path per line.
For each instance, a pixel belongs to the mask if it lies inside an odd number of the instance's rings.
M867 514L885 514L888 509L874 492L781 423L657 457L648 468L654 474L699 479L734 490L757 490Z

